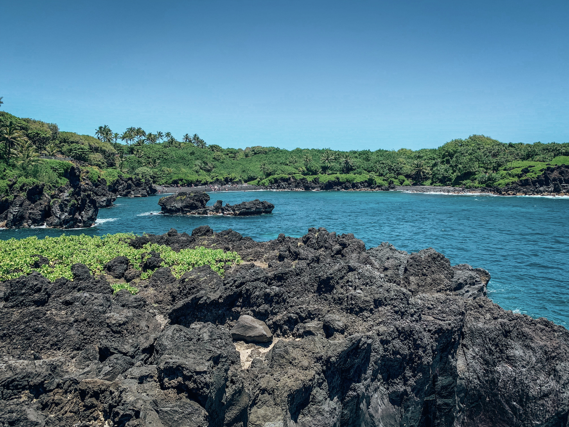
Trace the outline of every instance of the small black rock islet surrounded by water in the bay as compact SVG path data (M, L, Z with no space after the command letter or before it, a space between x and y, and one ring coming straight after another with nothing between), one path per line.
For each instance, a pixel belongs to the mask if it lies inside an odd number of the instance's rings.
M206 206L209 202L209 194L205 191L199 192L179 192L171 196L165 196L158 200L158 204L164 213L184 215L262 215L271 213L275 208L273 203L255 199L250 202L241 202L223 206L222 200L217 200L213 206Z

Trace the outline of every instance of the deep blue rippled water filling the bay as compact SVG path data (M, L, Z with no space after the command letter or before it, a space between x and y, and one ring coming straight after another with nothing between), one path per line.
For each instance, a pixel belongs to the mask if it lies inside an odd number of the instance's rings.
M506 310L547 317L569 327L569 198L408 194L402 192L224 192L224 203L259 198L275 204L271 215L196 217L158 214L158 196L119 198L101 209L97 224L67 234L134 232L162 234L171 227L191 232L208 224L232 228L255 240L279 233L299 237L309 227L354 233L366 247L389 241L415 252L432 247L452 264L489 270L489 297ZM151 215L152 213L152 215ZM35 228L0 231L0 239L62 231Z

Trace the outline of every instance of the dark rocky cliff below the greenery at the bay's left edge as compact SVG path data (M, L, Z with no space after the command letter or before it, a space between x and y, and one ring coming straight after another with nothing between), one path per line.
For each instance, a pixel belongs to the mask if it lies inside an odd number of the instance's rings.
M36 184L28 187L25 195L17 194L10 202L6 201L0 212L0 226L81 228L93 225L99 205L112 199L102 184L104 181L94 186L88 179L82 180L78 166L72 166L64 176L69 183L54 191L47 191L45 184ZM17 181L13 180L12 186L15 184Z

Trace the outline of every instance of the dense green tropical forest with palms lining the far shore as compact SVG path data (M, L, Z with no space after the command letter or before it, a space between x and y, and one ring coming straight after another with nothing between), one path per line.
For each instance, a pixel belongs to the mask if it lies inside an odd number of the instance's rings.
M319 182L501 187L524 175L537 176L548 164L569 164L569 143L502 143L483 135L417 151L234 149L208 144L197 134L177 139L170 132L139 127L119 133L104 125L94 129L94 136L79 135L7 112L0 112L0 144L0 194L7 179L16 177L18 182L63 184L70 165L66 158L81 162L90 178L108 183L126 175L182 185L267 185L293 176Z

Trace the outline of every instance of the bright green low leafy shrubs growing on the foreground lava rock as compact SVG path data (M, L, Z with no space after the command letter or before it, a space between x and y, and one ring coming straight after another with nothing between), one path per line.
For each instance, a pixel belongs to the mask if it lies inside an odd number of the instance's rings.
M179 278L187 270L197 266L210 265L219 274L224 273L224 265L239 264L240 256L236 252L224 252L222 249L182 249L172 251L169 246L147 243L141 249L129 245L134 239L133 233L117 233L105 236L65 236L45 237L36 236L25 239L10 239L0 241L0 280L10 280L22 274L37 271L54 281L60 277L73 279L71 266L81 262L89 267L92 274L101 274L105 264L117 256L129 258L133 267L141 270L144 262L150 257L149 252L159 252L164 260L162 266L172 269L172 274ZM39 254L50 260L40 268L34 268ZM151 271L142 272L141 278L148 278Z

